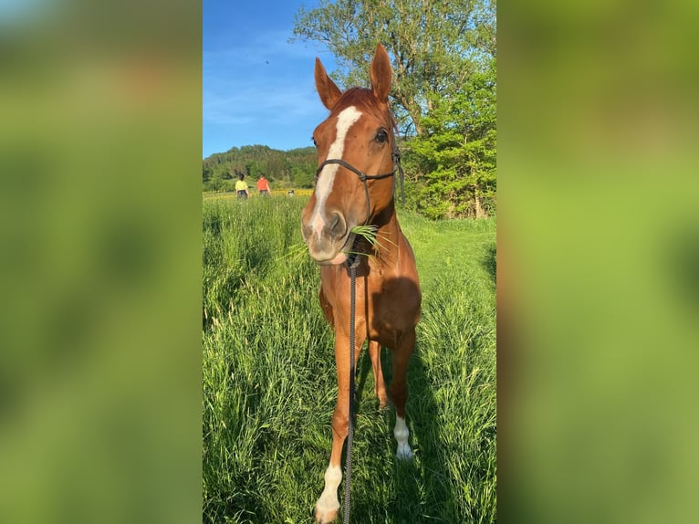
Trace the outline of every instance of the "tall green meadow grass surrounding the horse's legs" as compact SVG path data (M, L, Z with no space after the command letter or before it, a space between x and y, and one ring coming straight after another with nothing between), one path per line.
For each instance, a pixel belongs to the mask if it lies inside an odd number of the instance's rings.
M318 267L298 250L305 202L203 204L204 522L313 521L337 384ZM415 457L395 457L395 414L379 411L363 351L352 522L494 522L496 221L400 218L423 287L408 373Z

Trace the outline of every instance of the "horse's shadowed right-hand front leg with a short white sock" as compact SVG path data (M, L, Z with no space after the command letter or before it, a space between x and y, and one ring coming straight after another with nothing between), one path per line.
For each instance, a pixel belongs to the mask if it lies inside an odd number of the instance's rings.
M412 458L412 449L408 444L410 431L405 424L405 402L408 400L408 362L415 345L415 330L405 333L398 341L391 362L393 367L393 380L391 381L391 401L396 408L396 424L393 427L393 435L396 437L398 447L396 456L409 460Z

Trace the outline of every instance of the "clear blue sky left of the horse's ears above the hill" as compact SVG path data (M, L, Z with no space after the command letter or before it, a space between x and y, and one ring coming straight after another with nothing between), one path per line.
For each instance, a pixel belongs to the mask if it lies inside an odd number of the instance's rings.
M203 0L203 158L262 144L311 145L328 111L313 80L315 58L335 62L315 43L287 43L294 16L309 0Z

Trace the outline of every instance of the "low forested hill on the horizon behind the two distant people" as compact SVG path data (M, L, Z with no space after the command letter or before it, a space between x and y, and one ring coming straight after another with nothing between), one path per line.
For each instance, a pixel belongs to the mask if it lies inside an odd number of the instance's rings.
M203 160L204 191L233 190L236 173L245 173L249 184L260 174L276 189L313 187L318 159L313 146L280 151L266 145L245 145L216 152Z

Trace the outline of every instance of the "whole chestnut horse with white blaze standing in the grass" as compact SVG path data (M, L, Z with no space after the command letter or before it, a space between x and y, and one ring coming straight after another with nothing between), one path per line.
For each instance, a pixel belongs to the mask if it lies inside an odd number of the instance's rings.
M308 253L320 267L320 306L335 330L338 403L332 416L332 453L325 472L325 489L314 511L317 522L330 522L339 509L340 457L349 424L350 369L356 369L365 340L369 340L374 392L381 407L388 400L381 372L381 346L391 350L396 455L412 458L405 424L406 372L415 343L415 325L420 319L421 292L415 257L398 225L393 201L395 139L388 103L388 54L381 44L376 48L370 68L371 89L352 88L342 93L318 58L315 74L318 95L330 115L313 132L318 148L317 182L302 212L301 229ZM372 247L352 233L356 225L375 226L381 246ZM356 268L355 362L351 367L350 269L345 264L349 252L368 255L359 257Z

